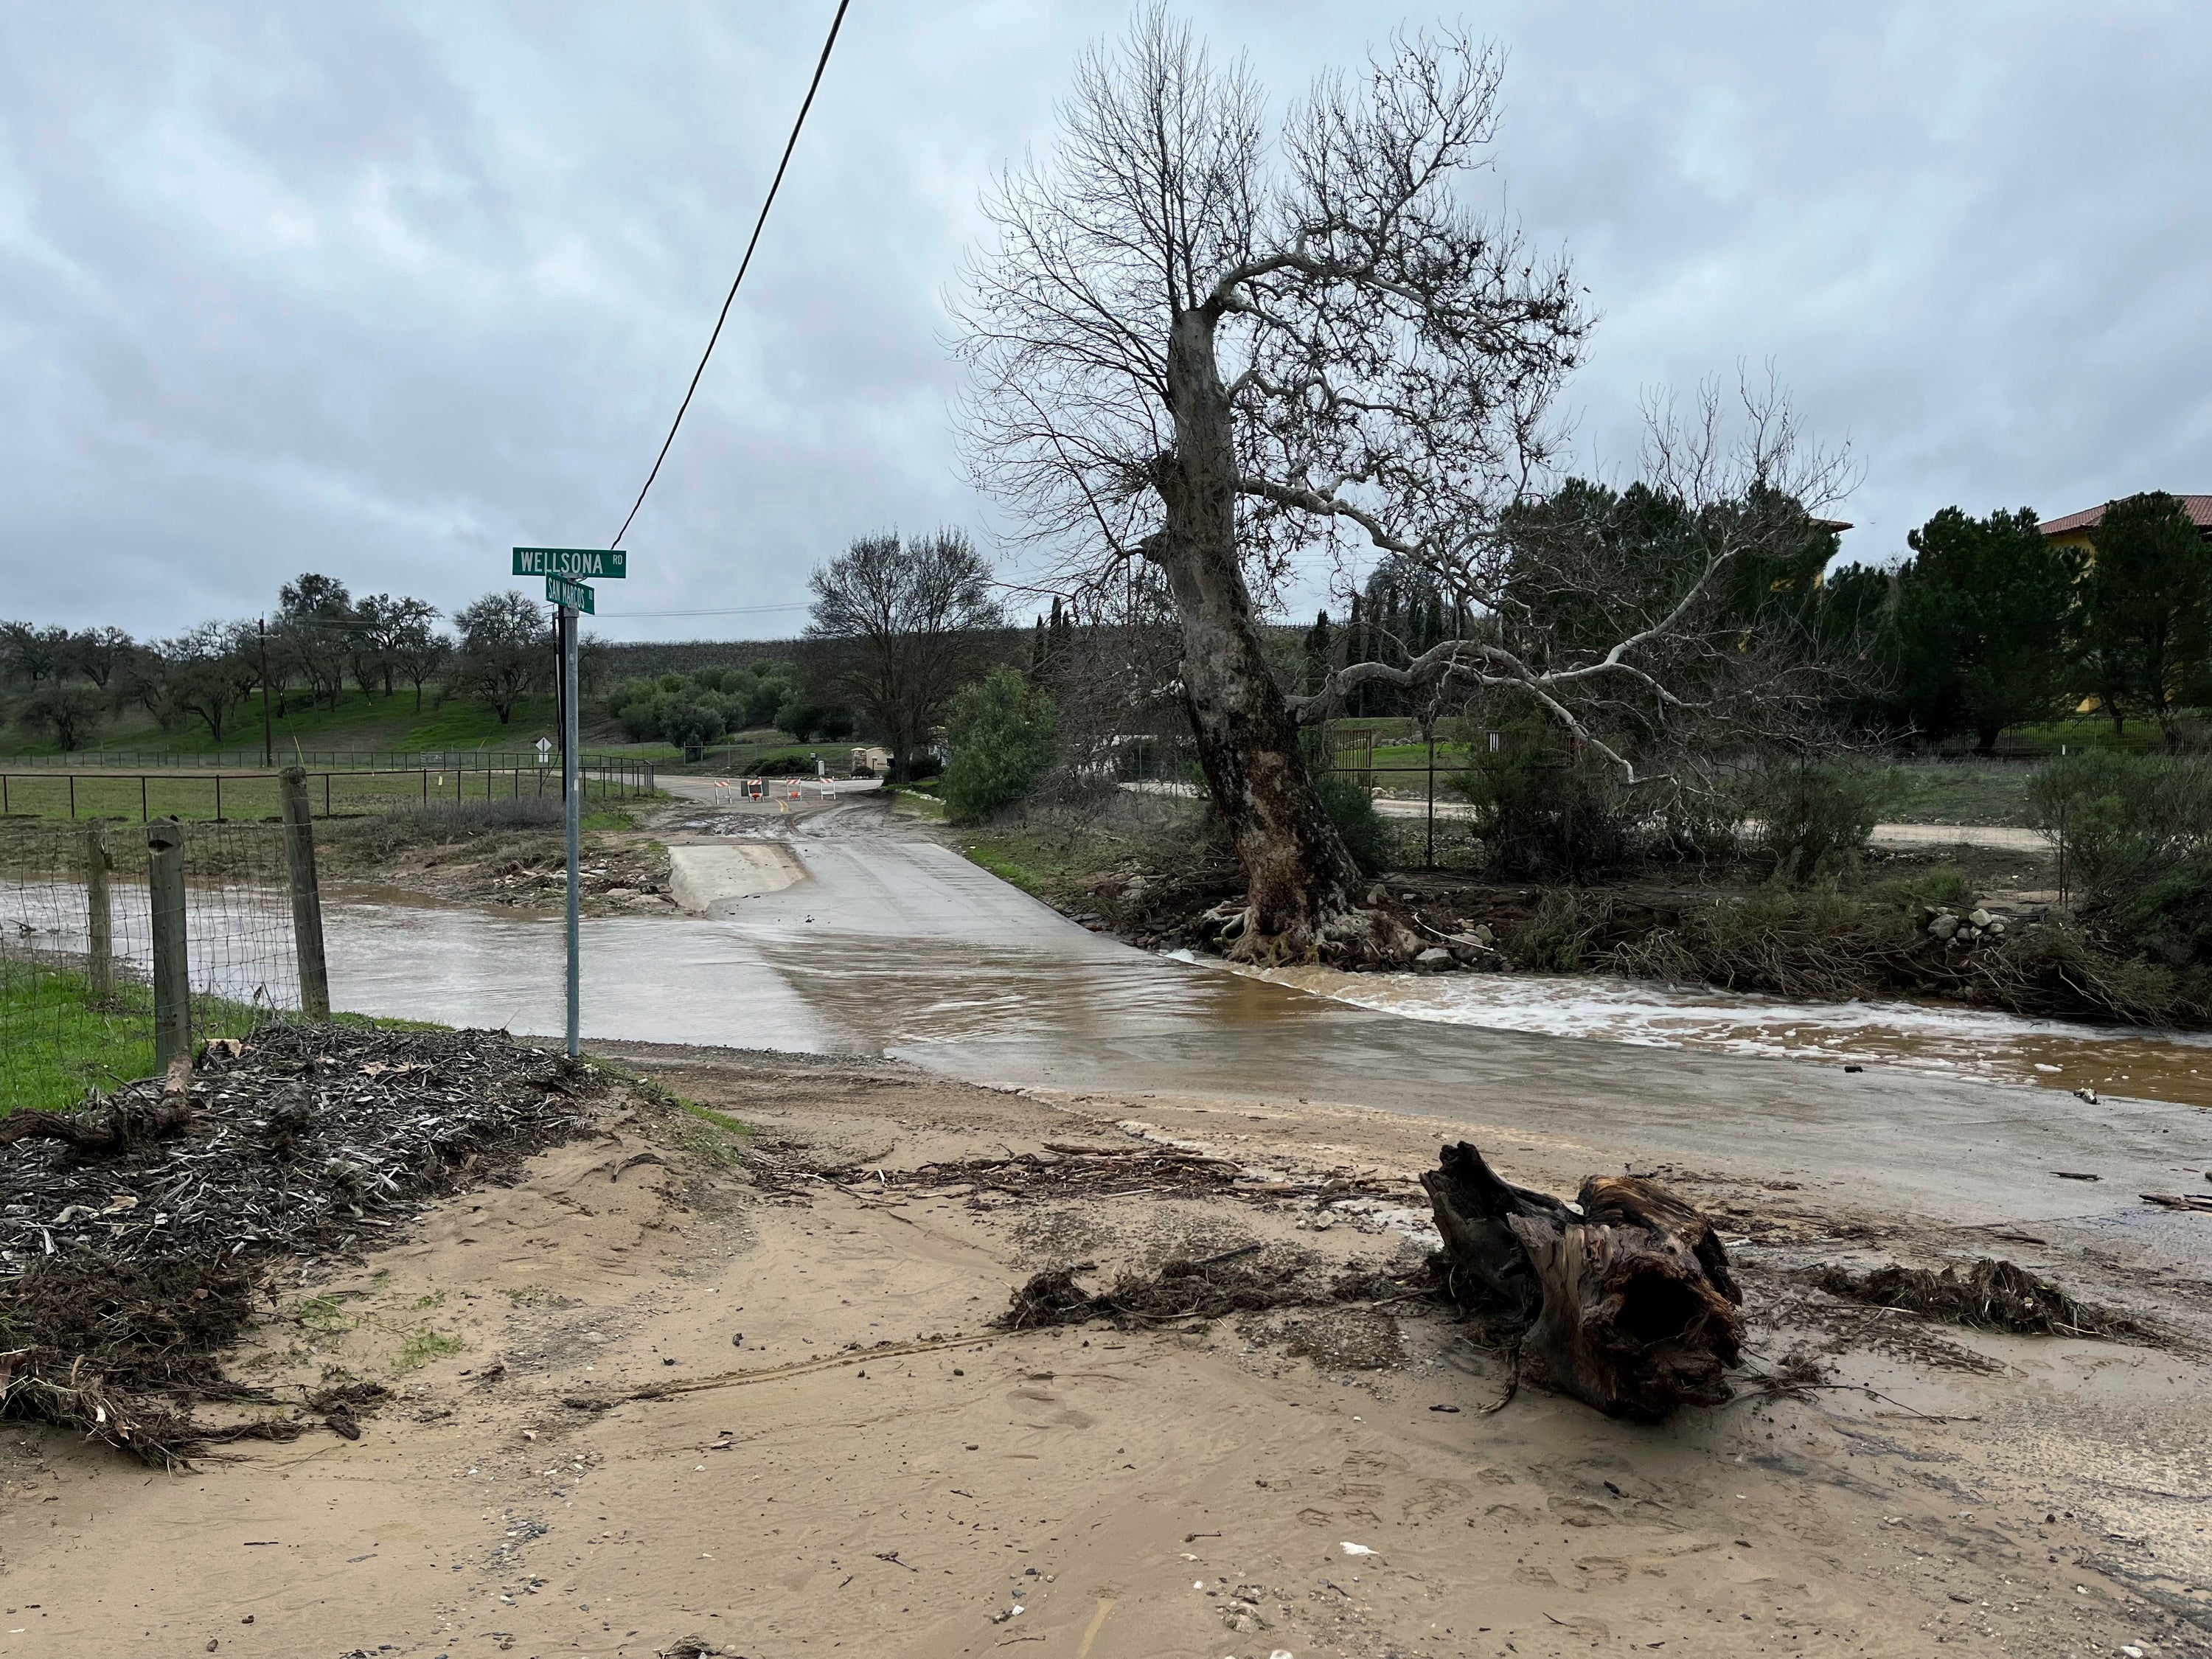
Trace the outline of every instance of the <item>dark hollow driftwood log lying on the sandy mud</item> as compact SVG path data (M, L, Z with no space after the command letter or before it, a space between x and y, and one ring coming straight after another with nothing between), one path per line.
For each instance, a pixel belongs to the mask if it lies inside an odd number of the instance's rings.
M1730 1398L1743 1321L1712 1223L1661 1186L1593 1175L1575 1206L1498 1177L1467 1141L1420 1177L1462 1307L1553 1387L1619 1418Z

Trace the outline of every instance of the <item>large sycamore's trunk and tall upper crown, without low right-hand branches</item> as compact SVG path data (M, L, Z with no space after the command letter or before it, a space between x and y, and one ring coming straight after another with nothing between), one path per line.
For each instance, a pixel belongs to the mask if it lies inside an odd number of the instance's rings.
M1347 538L1453 566L1544 465L1586 319L1564 261L1458 195L1500 60L1409 38L1270 142L1243 64L1161 11L1077 66L962 303L980 478L1077 580L1166 577L1181 695L1245 867L1245 956L1398 953L1314 794L1254 586Z

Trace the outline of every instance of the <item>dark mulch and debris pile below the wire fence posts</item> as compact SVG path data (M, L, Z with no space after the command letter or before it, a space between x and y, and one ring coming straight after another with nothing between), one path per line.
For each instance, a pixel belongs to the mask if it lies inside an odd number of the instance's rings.
M504 1033L270 1024L210 1044L190 1079L0 1121L0 1416L157 1467L219 1438L299 1433L276 1416L226 1431L190 1418L192 1400L276 1405L215 1360L252 1316L254 1270L356 1250L507 1175L575 1135L599 1086ZM345 1433L369 1394L303 1405Z

